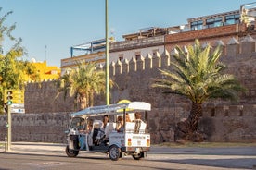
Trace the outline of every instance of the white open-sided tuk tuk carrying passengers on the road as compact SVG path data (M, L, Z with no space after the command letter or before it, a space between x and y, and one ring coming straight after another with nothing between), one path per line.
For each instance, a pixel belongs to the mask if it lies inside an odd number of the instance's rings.
M66 131L67 155L76 157L81 151L104 152L113 161L125 155L132 155L135 160L146 157L150 148L150 134L147 132L147 111L150 110L150 103L130 102L89 107L71 114L69 130ZM135 119L134 113L142 115L142 120ZM103 115L110 117L104 129ZM132 117L131 122L126 121L128 115ZM123 117L122 130L116 129L117 116Z

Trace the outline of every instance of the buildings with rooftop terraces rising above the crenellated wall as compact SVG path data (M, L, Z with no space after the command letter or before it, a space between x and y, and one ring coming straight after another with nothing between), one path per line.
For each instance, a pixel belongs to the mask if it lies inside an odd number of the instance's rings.
M195 39L199 39L203 45L217 46L227 43L232 38L240 41L247 34L255 38L255 16L256 6L247 4L241 5L240 9L235 11L188 18L186 24L179 26L141 29L138 32L123 35L124 41L122 42L115 42L113 39L109 41L109 63L137 60L141 56L153 56L165 51L173 53L176 45L186 48L186 45L195 42ZM104 65L106 43L104 41L100 43L99 52L96 49L98 44L95 42L89 43L87 47L89 54L62 59L62 74L67 67L75 67L78 60L96 61ZM94 44L95 51L92 50Z

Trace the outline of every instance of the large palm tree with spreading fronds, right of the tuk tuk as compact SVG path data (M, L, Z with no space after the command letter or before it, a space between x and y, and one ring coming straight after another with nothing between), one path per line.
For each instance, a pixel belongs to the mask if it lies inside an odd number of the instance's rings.
M193 140L198 130L202 115L202 103L211 98L238 99L238 92L245 89L230 74L224 74L224 64L219 61L222 54L220 47L211 53L211 46L195 45L187 47L187 53L179 46L173 55L173 70L160 69L166 79L157 79L152 87L164 88L168 93L186 96L192 102L190 114L186 119L184 140ZM167 79L169 78L169 79Z

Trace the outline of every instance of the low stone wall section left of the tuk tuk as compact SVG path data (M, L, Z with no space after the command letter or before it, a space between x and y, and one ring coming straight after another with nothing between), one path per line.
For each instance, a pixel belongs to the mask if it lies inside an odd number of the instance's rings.
M6 115L0 116L0 140L6 136ZM12 114L12 141L67 142L68 113Z

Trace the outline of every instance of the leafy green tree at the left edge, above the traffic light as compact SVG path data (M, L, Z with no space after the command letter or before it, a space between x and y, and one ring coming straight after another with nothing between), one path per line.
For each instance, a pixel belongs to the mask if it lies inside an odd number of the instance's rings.
M2 8L0 8L1 12ZM12 31L16 25L6 26L6 18L12 14L7 12L0 17L0 109L2 111L4 105L4 91L6 89L20 90L25 85L25 75L32 76L32 79L38 79L38 75L32 64L23 61L20 58L25 54L24 47L21 46L22 40L12 36ZM5 39L14 42L10 49L5 49L2 45ZM4 52L4 50L6 52ZM1 112L0 111L0 112Z

